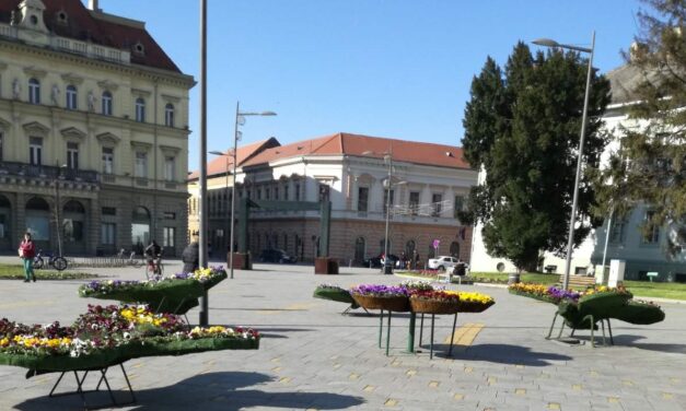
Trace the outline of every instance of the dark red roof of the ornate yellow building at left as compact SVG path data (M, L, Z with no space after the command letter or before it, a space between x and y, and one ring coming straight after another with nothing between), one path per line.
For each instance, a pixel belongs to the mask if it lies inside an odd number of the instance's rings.
M21 0L0 0L0 22L9 24L12 11L18 10L20 3ZM105 17L96 19L98 13L91 13L81 0L43 0L43 3L45 25L56 35L124 49L131 52L132 63L181 73L174 61L144 28L103 20ZM58 23L59 11L67 13L66 24ZM138 43L143 45L143 54L133 50Z

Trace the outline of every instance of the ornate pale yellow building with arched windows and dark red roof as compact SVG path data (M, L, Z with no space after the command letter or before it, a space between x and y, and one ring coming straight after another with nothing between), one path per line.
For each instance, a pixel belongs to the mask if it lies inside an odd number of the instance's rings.
M66 255L179 254L193 85L96 1L1 2L0 250L30 231Z

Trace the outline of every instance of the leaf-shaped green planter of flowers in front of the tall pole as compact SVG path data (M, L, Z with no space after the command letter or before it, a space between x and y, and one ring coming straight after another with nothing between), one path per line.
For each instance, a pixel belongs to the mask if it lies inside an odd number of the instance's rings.
M79 287L79 295L123 303L146 303L156 313L185 314L198 305L202 294L226 279L221 267L196 270L159 280L91 281Z

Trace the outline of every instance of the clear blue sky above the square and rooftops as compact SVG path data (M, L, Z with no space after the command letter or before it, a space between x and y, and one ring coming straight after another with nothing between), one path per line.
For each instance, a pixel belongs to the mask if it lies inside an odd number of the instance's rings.
M85 1L85 0L84 0ZM199 75L199 0L100 0L147 22L185 73ZM472 78L518 40L590 45L594 66L623 64L636 0L208 0L208 150L338 131L460 145ZM535 47L535 46L534 46ZM190 169L199 167L199 86L190 93ZM211 157L211 156L210 156Z

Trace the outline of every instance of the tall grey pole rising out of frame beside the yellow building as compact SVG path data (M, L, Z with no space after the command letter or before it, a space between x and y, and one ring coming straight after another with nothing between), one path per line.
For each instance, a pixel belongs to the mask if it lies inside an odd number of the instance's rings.
M208 266L207 255L207 0L200 0L200 267ZM200 326L209 321L207 290L200 298Z

